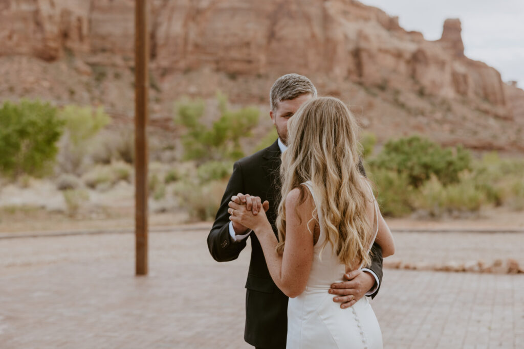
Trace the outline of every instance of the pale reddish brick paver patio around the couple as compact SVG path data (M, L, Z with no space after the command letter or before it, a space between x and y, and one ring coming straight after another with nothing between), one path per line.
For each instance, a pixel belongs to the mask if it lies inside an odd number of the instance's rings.
M249 252L216 263L206 234L151 234L147 277L130 234L0 240L0 347L249 348ZM522 274L386 269L372 304L385 348L524 347Z

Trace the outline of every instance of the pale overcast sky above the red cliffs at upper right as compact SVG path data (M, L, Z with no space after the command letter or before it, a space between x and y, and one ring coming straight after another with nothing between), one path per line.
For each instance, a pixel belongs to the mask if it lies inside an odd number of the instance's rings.
M467 57L495 67L503 81L524 87L524 0L360 0L426 40L442 35L446 18L460 18Z

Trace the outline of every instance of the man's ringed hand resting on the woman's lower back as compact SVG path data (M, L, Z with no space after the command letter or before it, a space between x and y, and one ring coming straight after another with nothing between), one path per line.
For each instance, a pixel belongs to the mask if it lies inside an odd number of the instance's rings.
M354 270L344 274L348 281L332 284L330 294L336 295L334 302L342 303L341 308L353 306L359 299L375 285L375 278L361 270Z

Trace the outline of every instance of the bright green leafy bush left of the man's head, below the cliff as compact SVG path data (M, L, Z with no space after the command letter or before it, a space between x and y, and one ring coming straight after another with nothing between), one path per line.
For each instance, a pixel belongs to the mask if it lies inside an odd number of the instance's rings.
M221 116L211 126L201 122L203 100L184 98L176 104L174 122L185 128L182 144L186 160L205 162L244 155L240 141L250 136L250 130L258 123L259 111L255 107L230 110L224 95L218 93L216 98Z

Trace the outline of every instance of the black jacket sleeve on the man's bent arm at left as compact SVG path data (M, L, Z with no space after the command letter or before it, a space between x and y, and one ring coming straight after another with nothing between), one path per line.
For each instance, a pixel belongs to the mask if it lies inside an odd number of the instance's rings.
M208 235L209 252L217 262L235 260L240 252L246 247L246 239L234 242L229 233L229 213L227 203L233 195L244 193L244 182L242 178L241 165L236 162L233 166L233 174L222 197L219 210L216 212L215 222Z

